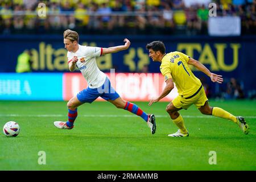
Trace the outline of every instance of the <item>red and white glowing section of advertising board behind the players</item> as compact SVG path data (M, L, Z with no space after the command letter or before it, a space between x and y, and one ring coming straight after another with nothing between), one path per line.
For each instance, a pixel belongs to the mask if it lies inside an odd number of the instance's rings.
M119 96L129 101L149 101L162 93L166 82L160 73L105 73ZM81 73L64 73L63 100L69 100L87 87ZM176 87L160 101L172 101L178 95ZM98 97L96 101L105 101Z

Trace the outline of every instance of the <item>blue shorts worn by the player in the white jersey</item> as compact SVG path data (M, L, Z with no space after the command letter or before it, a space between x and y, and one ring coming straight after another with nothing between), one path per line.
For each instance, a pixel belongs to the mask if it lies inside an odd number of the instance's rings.
M88 86L86 89L80 91L77 94L77 99L82 103L85 103L85 102L92 103L98 97L102 97L106 101L108 100L114 101L118 97L120 97L119 94L115 92L114 88L111 86L108 77L106 77L104 84L99 88L92 89L92 88L89 88Z

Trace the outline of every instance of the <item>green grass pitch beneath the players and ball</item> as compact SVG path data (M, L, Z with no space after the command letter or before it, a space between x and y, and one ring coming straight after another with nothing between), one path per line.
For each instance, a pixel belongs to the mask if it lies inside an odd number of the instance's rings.
M256 169L255 101L210 102L234 115L251 116L246 118L249 135L232 121L208 117L191 106L180 111L189 130L186 138L167 137L177 128L166 102L151 107L135 103L156 115L156 134L143 119L108 102L80 106L74 129L60 130L53 121L67 120L66 102L0 101L0 125L16 121L21 128L18 137L0 135L0 170ZM46 165L38 164L39 151L46 152ZM210 151L216 151L216 165L208 162Z

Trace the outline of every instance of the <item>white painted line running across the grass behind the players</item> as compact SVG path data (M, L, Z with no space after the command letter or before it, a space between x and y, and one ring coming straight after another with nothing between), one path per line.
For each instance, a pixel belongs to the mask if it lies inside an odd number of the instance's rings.
M80 117L100 118L131 118L137 115L112 115L112 114L81 114ZM0 117L67 117L67 114L0 114ZM169 115L155 115L156 118L169 118ZM212 115L182 115L183 118L213 118ZM245 118L256 118L256 115L245 115Z

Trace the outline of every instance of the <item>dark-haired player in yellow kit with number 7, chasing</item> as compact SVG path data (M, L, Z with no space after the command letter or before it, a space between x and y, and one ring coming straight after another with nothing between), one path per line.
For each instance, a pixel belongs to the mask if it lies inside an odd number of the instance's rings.
M158 102L162 98L166 97L174 88L174 83L179 93L179 96L177 96L166 107L166 111L170 115L172 121L177 127L179 127L179 130L176 133L169 134L168 137L188 137L188 130L186 129L183 118L178 111L181 109L188 109L192 104L195 104L202 114L229 119L234 123L237 123L243 133L249 133L249 125L247 125L243 117L235 117L220 107L209 106L203 85L199 78L192 73L188 64L193 65L199 69L199 71L204 72L210 77L210 80L218 82L219 84L223 81L221 75L216 75L210 72L209 69L199 61L192 59L182 52L175 51L166 53L166 48L163 42L154 41L148 43L146 48L149 51L151 59L161 63L160 71L166 80L166 87L163 92L158 98L150 100L148 105L151 106L154 102Z

